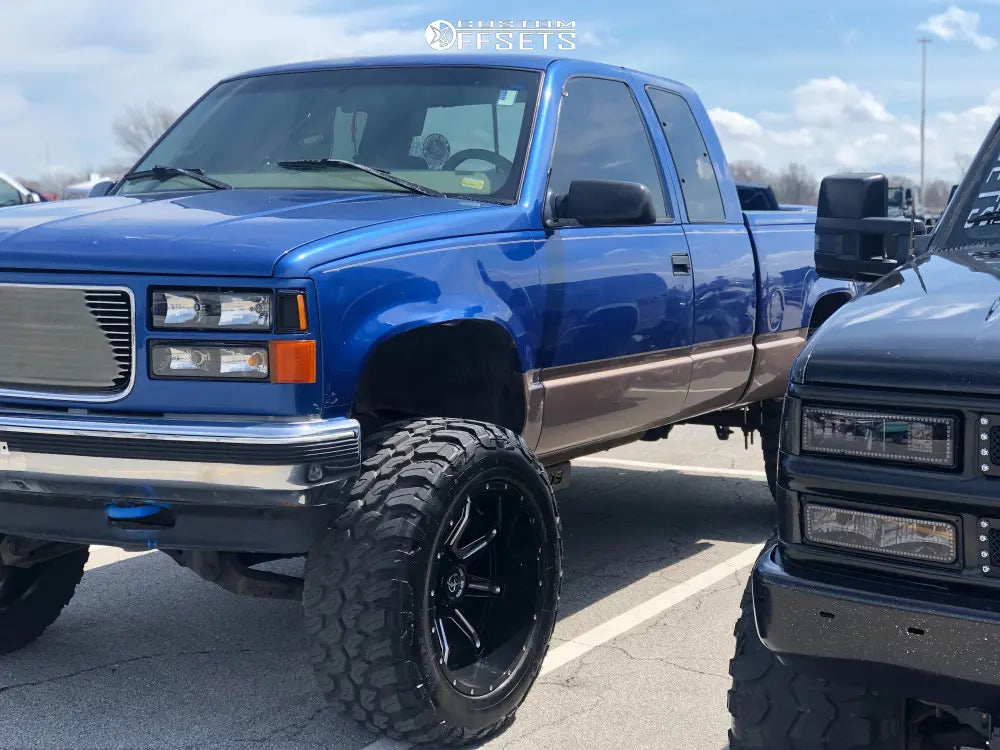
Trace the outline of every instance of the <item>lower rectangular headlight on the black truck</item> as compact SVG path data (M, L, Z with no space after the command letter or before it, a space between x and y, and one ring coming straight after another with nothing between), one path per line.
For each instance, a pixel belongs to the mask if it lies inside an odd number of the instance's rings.
M954 524L807 503L806 539L894 557L955 561Z

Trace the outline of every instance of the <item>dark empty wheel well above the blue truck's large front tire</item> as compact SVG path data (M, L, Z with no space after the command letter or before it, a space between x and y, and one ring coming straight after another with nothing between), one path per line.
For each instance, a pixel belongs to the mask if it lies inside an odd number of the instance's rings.
M354 399L365 432L420 417L472 419L521 433L525 380L497 323L438 323L398 334L368 357Z

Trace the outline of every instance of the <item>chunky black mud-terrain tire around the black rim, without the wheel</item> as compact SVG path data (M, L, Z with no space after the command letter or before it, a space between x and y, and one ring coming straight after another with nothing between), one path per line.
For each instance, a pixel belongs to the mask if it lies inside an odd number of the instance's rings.
M306 563L309 660L327 700L369 731L438 746L480 742L503 731L517 706L478 731L443 722L420 684L408 648L415 637L414 592L388 576L416 555L427 517L441 517L441 487L475 454L521 454L555 499L545 469L521 438L492 424L420 419L389 425L365 441L361 472L340 516ZM558 523L558 516L556 516ZM558 541L558 535L557 535ZM561 559L561 548L558 550ZM557 589L558 598L558 589ZM551 632L546 634L546 642ZM527 678L534 681L542 660ZM523 700L523 698L522 698Z

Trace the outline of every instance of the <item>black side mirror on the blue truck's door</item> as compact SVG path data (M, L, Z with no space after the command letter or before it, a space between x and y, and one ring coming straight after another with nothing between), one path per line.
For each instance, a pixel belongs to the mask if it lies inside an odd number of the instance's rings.
M649 188L617 180L573 180L569 192L553 200L552 214L556 221L572 219L582 226L656 223Z

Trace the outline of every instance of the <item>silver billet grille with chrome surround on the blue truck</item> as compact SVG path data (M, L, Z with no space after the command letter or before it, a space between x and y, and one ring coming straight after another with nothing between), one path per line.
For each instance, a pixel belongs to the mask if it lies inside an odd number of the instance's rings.
M0 391L119 397L132 383L132 308L126 289L0 284Z

